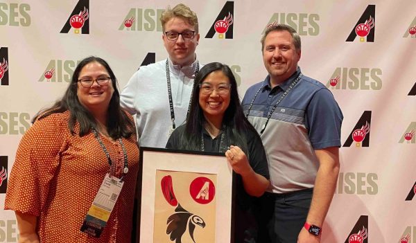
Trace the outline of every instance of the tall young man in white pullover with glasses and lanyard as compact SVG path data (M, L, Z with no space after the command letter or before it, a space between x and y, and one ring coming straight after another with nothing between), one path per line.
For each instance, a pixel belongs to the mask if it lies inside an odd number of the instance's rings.
M160 21L168 58L141 66L121 93L121 106L136 114L143 147L165 147L173 129L184 123L201 68L195 53L200 39L196 13L180 3L168 7Z

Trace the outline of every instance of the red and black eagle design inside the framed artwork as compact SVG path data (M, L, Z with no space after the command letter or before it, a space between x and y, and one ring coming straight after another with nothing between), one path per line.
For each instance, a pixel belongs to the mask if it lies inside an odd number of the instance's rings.
M196 225L201 226L202 228L205 227L204 219L198 215L190 213L189 211L182 208L182 206L180 206L175 197L175 193L173 193L173 183L172 177L170 175L162 178L161 186L164 198L166 201L168 201L168 204L171 204L171 206L176 206L176 213L173 213L173 215L169 216L166 222L168 225L166 228L166 234L171 235L171 241L175 241L175 243L182 243L182 235L185 233L185 231L187 231L188 228L191 239L194 243L196 243L193 239L193 231L195 231Z

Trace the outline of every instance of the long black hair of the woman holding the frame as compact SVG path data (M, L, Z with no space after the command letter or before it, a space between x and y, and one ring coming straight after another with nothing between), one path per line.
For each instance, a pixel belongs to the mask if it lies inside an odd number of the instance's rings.
M183 150L200 150L200 136L202 127L205 124L205 116L199 105L199 93L200 84L207 78L209 73L214 71L222 71L229 79L230 88L230 101L227 109L225 110L223 117L223 127L225 127L225 133L227 136L227 145L238 145L248 155L248 141L246 136L242 134L248 131L257 134L256 129L245 118L243 108L240 104L239 92L237 91L237 82L234 74L229 66L221 64L219 62L211 62L202 67L202 69L196 75L195 82L193 84L193 96L191 100L191 109L187 118L186 127L184 130L184 139L180 139L180 149ZM256 136L259 136L258 134Z

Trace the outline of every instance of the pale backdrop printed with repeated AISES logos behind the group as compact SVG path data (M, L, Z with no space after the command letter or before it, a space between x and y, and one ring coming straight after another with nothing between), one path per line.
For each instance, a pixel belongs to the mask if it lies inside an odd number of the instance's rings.
M17 242L14 212L2 208L34 114L62 96L83 57L107 60L121 89L139 66L166 58L159 17L177 3L0 1L0 242ZM241 97L266 77L266 26L300 33L302 72L332 91L345 116L322 242L416 243L416 2L183 3L198 14L198 59L231 66Z

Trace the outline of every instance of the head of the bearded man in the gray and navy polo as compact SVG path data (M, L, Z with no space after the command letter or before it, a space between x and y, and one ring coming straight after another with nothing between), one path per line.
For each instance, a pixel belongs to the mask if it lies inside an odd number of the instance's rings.
M286 30L272 31L264 39L263 62L272 85L287 80L297 69L300 50L295 48L291 33Z

